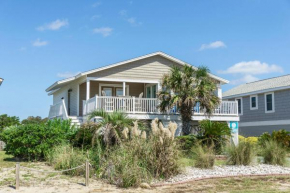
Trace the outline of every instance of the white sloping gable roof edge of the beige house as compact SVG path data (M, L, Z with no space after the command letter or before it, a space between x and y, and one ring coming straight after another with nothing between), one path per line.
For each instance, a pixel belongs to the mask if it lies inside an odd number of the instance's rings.
M187 64L186 62L181 61L181 60L179 60L177 58L174 58L174 57L172 57L172 56L170 56L168 54L165 54L163 52L154 52L152 54L147 54L147 55L140 56L140 57L137 57L137 58L133 58L133 59L130 59L130 60L125 60L123 62L118 62L118 63L111 64L111 65L108 65L108 66L96 68L96 69L93 69L93 70L89 70L89 71L86 71L86 72L79 73L76 76L73 76L73 77L70 77L70 78L59 80L59 81L53 83L51 86L49 86L45 91L46 92L52 91L52 90L54 90L54 87L57 86L57 85L61 85L61 84L76 80L76 79L78 79L80 77L86 76L86 75L91 74L91 73L95 73L95 72L98 72L98 71L101 71L101 70L106 70L106 69L109 69L109 68L117 67L117 66L124 65L124 64L130 63L130 62L135 62L135 61L138 61L138 60L142 60L142 59L145 59L145 58L149 58L149 57L152 57L152 56L158 56L158 55L162 56L164 58L167 58L168 60L171 60L173 62L176 62L176 63L178 63L180 65L186 65ZM197 69L197 67L195 67L195 66L193 66L193 68ZM216 75L210 74L210 76L212 78L220 81L222 84L229 83L228 80L223 79L221 77L218 77Z

